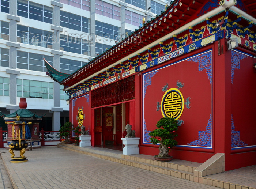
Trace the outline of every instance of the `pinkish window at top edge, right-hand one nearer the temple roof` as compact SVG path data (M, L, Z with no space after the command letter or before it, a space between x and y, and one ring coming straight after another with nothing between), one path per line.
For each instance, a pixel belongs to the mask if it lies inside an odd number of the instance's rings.
M116 20L120 20L121 15L120 7L101 0L96 0L96 13Z

